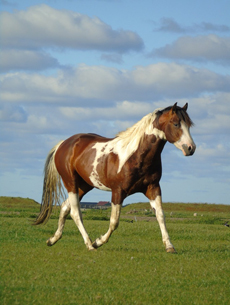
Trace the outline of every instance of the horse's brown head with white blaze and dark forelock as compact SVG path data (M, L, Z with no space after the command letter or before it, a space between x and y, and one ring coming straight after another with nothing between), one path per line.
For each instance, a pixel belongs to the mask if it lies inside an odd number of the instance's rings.
M185 156L191 156L196 150L196 145L189 131L193 122L187 114L187 108L187 103L183 108L178 107L176 103L160 111L158 122L166 140L182 150Z

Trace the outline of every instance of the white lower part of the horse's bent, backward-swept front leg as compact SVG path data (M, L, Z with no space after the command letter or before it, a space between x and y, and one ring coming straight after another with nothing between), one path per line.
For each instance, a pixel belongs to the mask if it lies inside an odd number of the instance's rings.
M121 202L119 201L119 203L117 204L111 202L111 217L109 223L109 230L104 235L97 238L93 242L93 247L95 249L101 247L103 244L108 242L113 231L115 231L119 225L120 213L121 213Z

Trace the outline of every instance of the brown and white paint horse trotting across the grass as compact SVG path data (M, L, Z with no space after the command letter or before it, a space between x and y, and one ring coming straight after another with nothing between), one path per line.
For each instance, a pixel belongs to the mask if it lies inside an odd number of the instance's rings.
M48 154L41 211L34 224L46 222L62 193L61 180L68 192L62 203L58 229L47 240L54 245L61 237L67 215L76 223L86 247L94 250L108 242L117 229L123 200L141 192L150 200L167 252L176 252L166 229L161 201L161 152L166 142L173 143L185 156L196 146L190 135L193 125L188 104L157 109L115 138L96 134L76 134L57 144ZM83 225L80 201L93 188L112 192L111 217L107 233L94 242Z

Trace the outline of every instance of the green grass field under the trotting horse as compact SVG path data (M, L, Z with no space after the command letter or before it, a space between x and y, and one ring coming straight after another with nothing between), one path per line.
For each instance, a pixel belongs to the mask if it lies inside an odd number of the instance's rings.
M57 227L58 208L45 226L31 226L39 212L35 202L1 197L0 207L1 304L230 302L230 228L224 226L230 206L166 203L177 254L165 252L146 204L123 208L118 230L93 252L70 219L63 238L46 246ZM108 217L108 210L84 212L92 239L107 231Z

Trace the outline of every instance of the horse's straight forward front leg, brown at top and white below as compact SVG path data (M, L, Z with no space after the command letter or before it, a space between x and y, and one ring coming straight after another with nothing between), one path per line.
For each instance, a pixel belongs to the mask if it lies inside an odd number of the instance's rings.
M162 241L165 245L166 251L168 253L176 253L176 250L173 244L170 241L168 231L165 225L165 216L162 209L162 200L161 200L161 189L160 186L157 188L149 188L146 196L150 200L150 205L156 212L156 218L160 226L161 234L162 234Z

